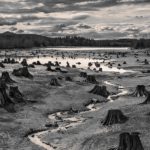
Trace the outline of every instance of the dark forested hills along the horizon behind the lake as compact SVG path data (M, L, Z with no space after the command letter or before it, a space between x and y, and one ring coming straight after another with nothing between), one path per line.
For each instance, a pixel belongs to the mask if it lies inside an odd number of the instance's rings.
M94 40L77 36L50 38L35 34L0 34L0 49L32 48L48 46L91 46L150 48L150 39Z

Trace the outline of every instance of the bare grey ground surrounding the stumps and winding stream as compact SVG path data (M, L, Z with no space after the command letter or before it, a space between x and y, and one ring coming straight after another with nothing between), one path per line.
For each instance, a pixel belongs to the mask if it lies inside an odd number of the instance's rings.
M53 53L51 52L50 55L53 55ZM135 57L137 53L139 54L138 58ZM24 56L26 54L24 52ZM99 54L99 52L95 52L95 56L92 55L91 57L98 57ZM87 53L83 52L80 56L85 58L87 55ZM80 56L78 54L77 57ZM115 63L114 67L121 64L121 68L135 72L95 72L87 69L84 71L94 74L100 85L106 85L111 94L117 94L119 90L112 85L105 84L105 81L121 85L129 93L132 93L139 84L145 85L146 89L150 91L150 73L141 72L150 69L150 65L143 63L144 59L150 62L150 56L147 56L145 51L135 50L126 54L126 57L120 56L119 58L116 57L116 54L109 54L108 56L111 56L112 61ZM137 59L139 59L138 62ZM123 65L124 61L127 64ZM18 104L16 105L16 113L8 113L3 108L0 108L0 149L44 150L45 148L32 143L25 135L31 129L47 129L45 124L49 123L49 114L67 110L71 107L82 111L85 107L84 104L92 98L99 99L100 101L106 100L103 97L88 92L94 87L94 84L84 83L84 79L79 77L81 70L78 68L67 68L68 73L64 74L60 72L48 72L45 66L37 65L35 68L29 68L34 78L26 79L12 75L13 69L20 67L20 64L5 64L5 69L1 68L0 72L8 71L11 78L17 82L14 85L19 87L25 98L36 100L37 103ZM59 80L60 87L52 87L49 83L54 76L71 76L73 82L65 81L63 78ZM79 81L84 84L81 84ZM138 105L144 100L144 97L137 98L125 95L111 102L96 104L95 107L98 108L97 110L79 114L80 117L85 119L84 122L70 127L63 132L48 132L41 135L40 139L49 145L56 146L52 149L58 150L107 150L118 145L119 134L121 132L140 132L140 139L144 150L149 150L150 117L146 114L150 112L150 105ZM101 121L106 116L107 111L114 108L121 109L129 117L129 120L124 124L117 124L110 127L102 126Z

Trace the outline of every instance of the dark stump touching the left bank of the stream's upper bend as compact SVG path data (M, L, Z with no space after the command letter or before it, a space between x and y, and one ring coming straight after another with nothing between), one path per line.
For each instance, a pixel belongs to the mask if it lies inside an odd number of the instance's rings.
M89 91L89 93L93 93L93 94L97 94L97 95L101 95L103 97L108 97L109 96L109 92L106 89L106 86L99 86L99 85L95 85L94 88Z

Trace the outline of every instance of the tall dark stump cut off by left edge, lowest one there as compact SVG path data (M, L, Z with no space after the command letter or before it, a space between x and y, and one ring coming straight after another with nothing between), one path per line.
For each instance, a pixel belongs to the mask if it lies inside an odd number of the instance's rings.
M3 85L3 84L0 84ZM0 105L6 109L8 112L15 112L14 103L8 97L6 93L6 88L4 86L0 86Z

